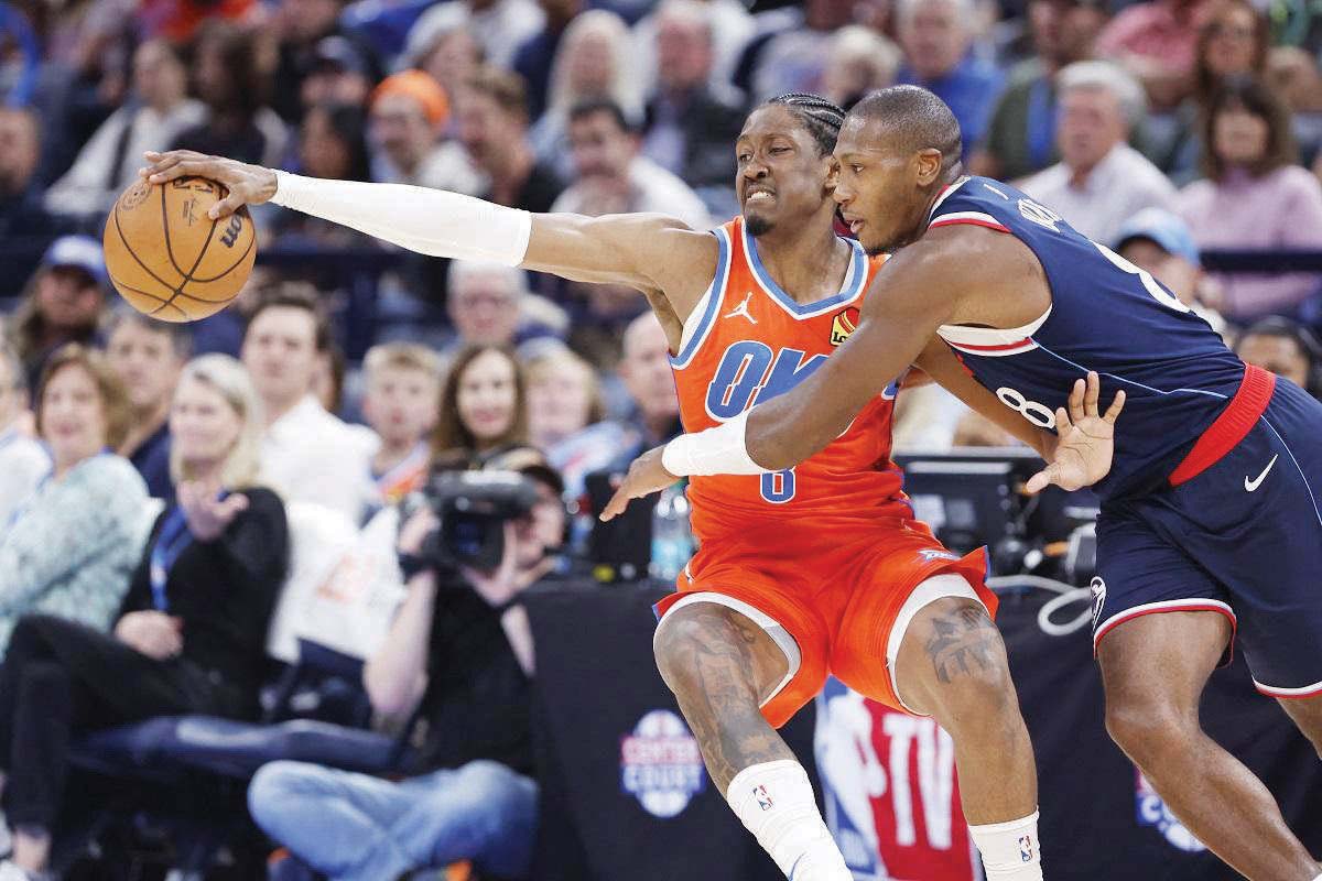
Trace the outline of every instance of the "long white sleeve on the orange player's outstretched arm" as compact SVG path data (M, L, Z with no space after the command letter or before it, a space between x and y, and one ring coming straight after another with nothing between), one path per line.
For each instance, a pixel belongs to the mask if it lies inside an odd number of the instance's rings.
M533 215L471 195L406 184L330 181L276 172L276 205L334 221L410 251L517 267Z

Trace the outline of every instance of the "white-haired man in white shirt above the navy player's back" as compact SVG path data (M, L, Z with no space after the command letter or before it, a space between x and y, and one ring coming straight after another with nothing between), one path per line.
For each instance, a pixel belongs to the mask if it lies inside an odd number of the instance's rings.
M1142 86L1117 65L1080 61L1060 71L1056 87L1062 161L1027 178L1023 192L1103 243L1142 209L1169 209L1175 188L1128 144L1146 110Z

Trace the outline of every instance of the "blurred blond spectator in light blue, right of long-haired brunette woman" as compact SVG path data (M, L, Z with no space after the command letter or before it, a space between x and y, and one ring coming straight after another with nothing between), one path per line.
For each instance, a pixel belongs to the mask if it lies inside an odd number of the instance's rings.
M605 420L602 382L592 365L555 346L524 365L527 432L564 478L568 498L583 495L583 478L609 466L627 442L624 428Z

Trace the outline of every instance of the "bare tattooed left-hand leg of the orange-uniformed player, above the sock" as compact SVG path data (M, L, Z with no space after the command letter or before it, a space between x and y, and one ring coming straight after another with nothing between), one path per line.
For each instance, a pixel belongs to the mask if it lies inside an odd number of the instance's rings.
M759 709L789 662L746 616L711 602L678 609L657 634L656 658L722 793L751 765L795 758Z

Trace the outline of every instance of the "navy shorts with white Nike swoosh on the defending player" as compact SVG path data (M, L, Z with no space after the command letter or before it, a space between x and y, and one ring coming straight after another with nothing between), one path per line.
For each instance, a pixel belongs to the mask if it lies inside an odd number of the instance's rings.
M1277 380L1211 468L1104 505L1097 572L1095 646L1138 616L1219 612L1260 692L1322 695L1322 404Z

